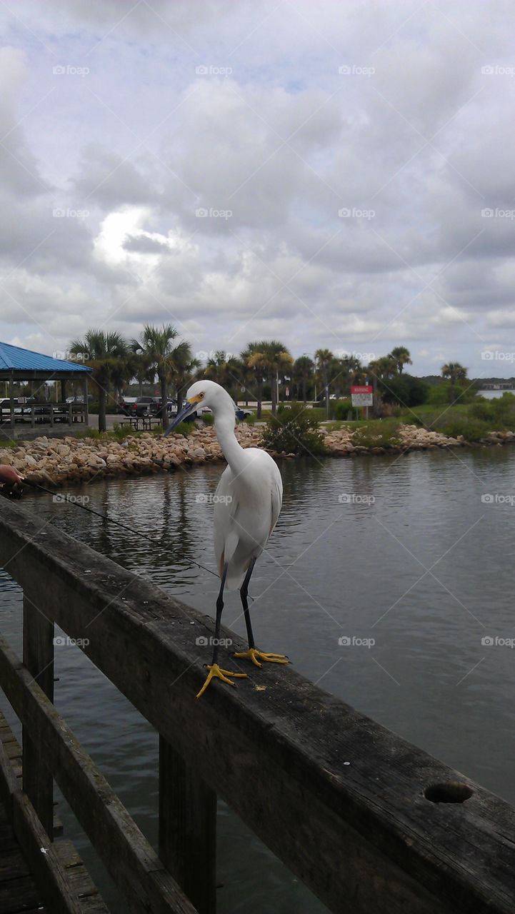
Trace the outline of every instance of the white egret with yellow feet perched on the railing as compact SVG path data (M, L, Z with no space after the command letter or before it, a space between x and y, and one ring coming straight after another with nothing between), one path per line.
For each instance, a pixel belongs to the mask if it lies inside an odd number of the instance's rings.
M218 678L228 685L235 685L231 679L246 677L246 673L224 670L218 664L225 587L228 590L240 588L249 642L247 651L234 656L248 658L256 666L261 666L263 661L288 663L284 654L267 654L256 648L248 602L249 581L256 559L263 552L281 510L281 473L270 454L259 448L241 447L234 434L237 407L227 391L214 381L197 381L188 389L186 405L170 424L166 435L198 409L200 403L212 410L216 435L227 460L227 467L221 474L216 490L214 510L215 555L220 574L220 592L213 659L207 666L209 675L197 697L205 692L211 679Z

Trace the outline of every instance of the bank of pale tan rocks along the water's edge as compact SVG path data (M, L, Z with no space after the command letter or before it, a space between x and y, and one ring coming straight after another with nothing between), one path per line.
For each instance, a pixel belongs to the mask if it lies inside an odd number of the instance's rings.
M461 436L448 438L437 431L402 425L398 439L383 446L381 429L378 431L377 445L373 444L373 436L369 432L369 443L364 446L358 443L357 430L322 428L328 456L332 457L470 446L500 447L515 441L513 431L492 431L482 441L469 442ZM236 437L242 447L259 447L262 436L259 428L241 424L236 428ZM272 454L276 458L295 458L295 454ZM223 460L212 426L192 430L187 436L176 434L166 439L150 433L137 437L129 435L124 441L72 437L52 439L42 435L34 441L20 441L11 448L2 448L0 452L0 464L13 467L27 482L54 487L63 483L86 483L104 476L170 472L179 466Z

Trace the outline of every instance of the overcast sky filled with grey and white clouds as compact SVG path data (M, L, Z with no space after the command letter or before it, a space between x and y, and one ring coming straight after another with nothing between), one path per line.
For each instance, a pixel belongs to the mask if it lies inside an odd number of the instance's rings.
M509 2L0 10L1 340L171 322L515 374Z

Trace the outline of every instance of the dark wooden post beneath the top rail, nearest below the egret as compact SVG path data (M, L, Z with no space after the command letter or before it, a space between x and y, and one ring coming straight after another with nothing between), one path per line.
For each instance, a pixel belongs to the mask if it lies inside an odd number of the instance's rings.
M159 856L198 914L216 910L216 793L159 737Z

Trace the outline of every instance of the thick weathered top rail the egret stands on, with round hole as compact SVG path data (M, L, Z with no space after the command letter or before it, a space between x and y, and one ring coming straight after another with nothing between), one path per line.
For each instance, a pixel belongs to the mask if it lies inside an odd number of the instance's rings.
M92 662L330 909L512 914L508 803L470 781L467 802L429 802L424 788L462 776L291 668L197 701L211 620L7 502L0 558L22 586L37 576L39 608L89 639Z

